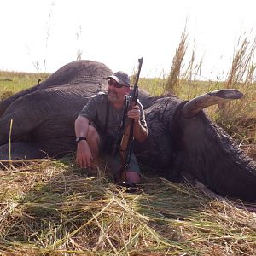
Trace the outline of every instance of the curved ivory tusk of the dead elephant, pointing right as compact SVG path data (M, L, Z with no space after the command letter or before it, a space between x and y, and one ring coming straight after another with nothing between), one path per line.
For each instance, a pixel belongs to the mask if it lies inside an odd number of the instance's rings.
M222 102L240 99L243 96L241 91L234 89L214 90L187 102L182 110L184 118L192 118L202 109Z

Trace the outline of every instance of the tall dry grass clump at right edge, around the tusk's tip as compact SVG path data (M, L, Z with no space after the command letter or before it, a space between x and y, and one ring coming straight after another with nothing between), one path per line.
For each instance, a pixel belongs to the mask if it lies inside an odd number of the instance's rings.
M234 51L232 65L224 88L240 90L244 96L218 105L216 121L236 137L240 144L256 143L256 84L254 54L256 38L240 38ZM255 148L254 154L256 154Z

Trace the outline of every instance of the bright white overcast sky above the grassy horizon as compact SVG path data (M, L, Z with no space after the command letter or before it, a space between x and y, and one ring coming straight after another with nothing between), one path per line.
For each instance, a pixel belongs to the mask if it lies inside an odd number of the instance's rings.
M2 0L0 70L54 73L82 59L141 76L170 71L183 29L201 78L223 78L238 39L256 36L255 0Z

